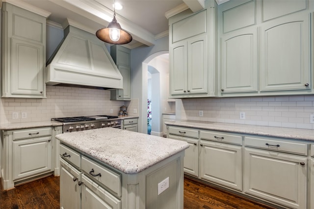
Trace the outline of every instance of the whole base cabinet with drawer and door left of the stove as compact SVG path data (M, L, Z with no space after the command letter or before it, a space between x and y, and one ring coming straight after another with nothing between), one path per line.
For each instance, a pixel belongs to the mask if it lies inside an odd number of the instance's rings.
M54 170L52 127L1 131L1 185L11 189ZM5 159L5 160L4 160Z

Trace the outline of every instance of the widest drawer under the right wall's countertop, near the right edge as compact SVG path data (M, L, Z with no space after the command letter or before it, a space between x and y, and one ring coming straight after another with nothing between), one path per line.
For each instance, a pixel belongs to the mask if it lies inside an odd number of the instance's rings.
M300 155L307 155L307 144L303 142L272 139L272 138L256 138L244 137L245 146L258 147L269 150L276 150L282 152L295 153Z

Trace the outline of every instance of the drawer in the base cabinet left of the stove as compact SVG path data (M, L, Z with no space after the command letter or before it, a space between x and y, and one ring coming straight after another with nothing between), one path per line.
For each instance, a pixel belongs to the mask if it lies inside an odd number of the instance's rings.
M51 127L17 130L13 131L13 140L51 136L51 133Z

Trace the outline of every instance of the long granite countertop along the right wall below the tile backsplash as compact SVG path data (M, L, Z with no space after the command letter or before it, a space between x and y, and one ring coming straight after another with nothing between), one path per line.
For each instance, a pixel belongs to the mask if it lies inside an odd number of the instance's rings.
M234 132L239 134L251 134L267 137L280 137L286 139L299 139L314 141L314 130L281 128L269 126L257 126L233 123L218 123L195 120L172 120L166 121L166 125L183 126L188 128L200 128L215 131Z

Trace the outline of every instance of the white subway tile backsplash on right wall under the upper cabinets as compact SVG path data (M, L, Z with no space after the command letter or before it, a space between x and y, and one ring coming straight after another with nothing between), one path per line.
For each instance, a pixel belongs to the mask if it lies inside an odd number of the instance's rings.
M182 103L189 120L314 129L309 119L314 114L314 95L198 98ZM198 116L199 110L204 110L203 117ZM239 112L245 112L246 119L239 119Z

